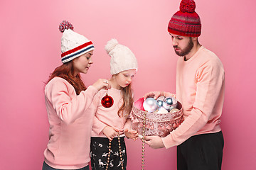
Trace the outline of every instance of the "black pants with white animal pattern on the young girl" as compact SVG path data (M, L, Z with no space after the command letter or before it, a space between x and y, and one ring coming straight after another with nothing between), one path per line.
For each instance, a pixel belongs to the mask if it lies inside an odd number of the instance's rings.
M110 140L107 137L91 137L90 157L92 170L105 170L107 165L107 157L109 152ZM127 166L127 153L124 137L120 137L122 162L124 169ZM111 142L110 163L111 170L122 170L121 160L119 157L118 139L115 137Z

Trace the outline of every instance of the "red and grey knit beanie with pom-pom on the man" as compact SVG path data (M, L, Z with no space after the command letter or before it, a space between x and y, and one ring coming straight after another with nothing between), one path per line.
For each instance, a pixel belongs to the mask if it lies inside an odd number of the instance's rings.
M187 37L199 37L201 35L201 21L195 8L195 1L181 0L180 11L171 17L168 32Z

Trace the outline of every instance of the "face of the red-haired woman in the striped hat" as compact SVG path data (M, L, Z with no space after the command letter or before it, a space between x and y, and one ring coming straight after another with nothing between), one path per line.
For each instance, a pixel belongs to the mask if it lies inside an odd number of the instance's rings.
M75 76L78 75L78 73L86 74L88 72L90 65L93 63L92 55L93 55L93 50L85 53L84 55L80 55L80 57L77 57L73 60Z

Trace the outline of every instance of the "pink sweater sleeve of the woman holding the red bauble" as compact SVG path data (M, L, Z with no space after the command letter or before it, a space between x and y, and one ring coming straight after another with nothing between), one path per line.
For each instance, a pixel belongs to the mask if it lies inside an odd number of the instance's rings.
M92 98L97 93L94 86L89 86L77 96L70 97L68 81L56 80L46 86L46 98L53 105L58 117L66 124L73 123L92 103ZM75 91L75 90L74 90Z

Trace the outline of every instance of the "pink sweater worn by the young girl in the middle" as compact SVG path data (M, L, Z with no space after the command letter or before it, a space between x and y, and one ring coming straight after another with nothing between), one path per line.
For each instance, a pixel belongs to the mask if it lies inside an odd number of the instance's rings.
M101 104L101 99L108 94L114 99L114 104L110 108L105 108ZM131 122L127 121L127 118L119 117L117 111L122 106L123 99L121 90L109 89L100 90L93 99L92 106L90 107L91 111L95 113L95 118L92 125L92 137L106 137L102 130L108 125L117 130L123 131L126 128L130 128ZM90 111L90 112L91 112ZM124 136L123 133L121 133Z

